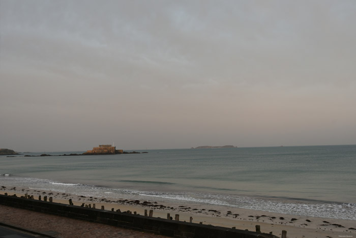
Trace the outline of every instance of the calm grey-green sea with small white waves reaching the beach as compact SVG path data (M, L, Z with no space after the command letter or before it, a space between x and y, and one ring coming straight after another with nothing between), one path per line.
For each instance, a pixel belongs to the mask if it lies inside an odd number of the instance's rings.
M144 151L3 155L0 186L356 220L356 145Z

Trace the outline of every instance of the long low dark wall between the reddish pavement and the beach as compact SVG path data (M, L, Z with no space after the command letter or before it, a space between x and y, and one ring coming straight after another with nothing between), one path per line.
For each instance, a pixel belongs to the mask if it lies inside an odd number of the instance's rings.
M265 233L173 221L15 196L0 195L0 204L176 238L278 238Z

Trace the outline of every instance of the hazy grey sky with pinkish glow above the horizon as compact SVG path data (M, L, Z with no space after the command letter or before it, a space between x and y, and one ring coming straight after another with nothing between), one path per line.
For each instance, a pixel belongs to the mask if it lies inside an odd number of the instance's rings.
M356 144L355 12L0 0L0 148Z

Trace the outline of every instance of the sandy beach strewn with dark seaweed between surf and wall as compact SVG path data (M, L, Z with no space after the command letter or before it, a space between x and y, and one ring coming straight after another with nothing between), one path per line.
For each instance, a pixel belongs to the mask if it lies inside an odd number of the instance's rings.
M72 199L74 205L93 205L96 208L104 206L106 210L120 209L121 211L136 211L137 214L144 215L144 210L154 210L153 217L167 218L167 214L173 217L175 214L180 215L181 221L189 221L193 218L194 223L210 224L222 227L236 227L236 229L255 230L255 225L260 225L261 231L265 233L273 232L281 236L282 230L287 231L287 237L356 237L356 221L341 220L319 217L304 217L288 214L269 213L266 211L232 208L226 206L217 206L210 204L184 204L175 203L157 203L156 201L130 201L110 200L110 197L95 198L77 196L67 193L54 191L39 191L28 188L6 188L0 187L0 194L14 195L20 197L24 194L34 196L47 196L53 198L53 202L69 204Z

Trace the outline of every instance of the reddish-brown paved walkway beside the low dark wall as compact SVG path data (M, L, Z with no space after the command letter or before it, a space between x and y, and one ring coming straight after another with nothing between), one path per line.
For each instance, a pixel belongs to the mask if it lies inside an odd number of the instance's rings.
M58 238L75 237L125 237L164 238L166 236L129 230L99 223L37 213L26 209L0 205L0 222L28 230L51 234ZM1 234L0 234L1 235Z

